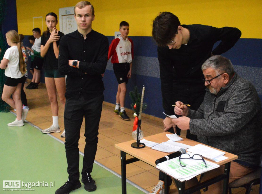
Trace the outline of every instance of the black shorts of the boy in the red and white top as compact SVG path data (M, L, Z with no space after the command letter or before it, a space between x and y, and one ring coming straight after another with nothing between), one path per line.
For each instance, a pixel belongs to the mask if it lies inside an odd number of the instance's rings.
M113 64L114 74L119 84L128 82L127 74L130 69L129 63L114 63Z

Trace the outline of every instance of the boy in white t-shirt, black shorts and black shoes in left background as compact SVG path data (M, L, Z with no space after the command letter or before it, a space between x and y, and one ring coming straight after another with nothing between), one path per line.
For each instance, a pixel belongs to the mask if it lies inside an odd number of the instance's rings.
M41 69L43 67L43 57L40 55L40 47L41 47L41 30L40 28L34 28L33 36L35 37L34 44L34 74L32 78L32 82L26 87L27 89L37 89L38 84L40 83Z

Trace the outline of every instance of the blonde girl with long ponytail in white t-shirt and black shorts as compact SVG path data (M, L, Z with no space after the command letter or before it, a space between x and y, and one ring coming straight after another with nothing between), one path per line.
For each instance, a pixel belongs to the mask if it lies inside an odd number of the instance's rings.
M14 122L8 123L8 126L23 126L25 121L26 110L23 111L21 101L21 85L24 82L25 62L19 42L19 35L15 30L6 33L7 44L11 46L6 50L0 68L5 69L4 74L7 76L4 84L2 100L17 110L17 118ZM11 98L12 95L12 98ZM27 110L28 111L28 110ZM22 115L23 112L23 115Z

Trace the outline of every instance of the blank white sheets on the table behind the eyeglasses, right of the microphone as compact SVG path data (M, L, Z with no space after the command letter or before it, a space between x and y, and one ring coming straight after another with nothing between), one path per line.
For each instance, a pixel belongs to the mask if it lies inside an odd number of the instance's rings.
M210 160L214 160L214 158L220 157L225 154L225 152L221 152L217 149L210 148L208 146L204 146L202 144L197 144L193 146L192 148L189 148L187 150L188 152L192 152L194 154L200 154L205 158L208 158ZM216 161L215 161L216 162Z

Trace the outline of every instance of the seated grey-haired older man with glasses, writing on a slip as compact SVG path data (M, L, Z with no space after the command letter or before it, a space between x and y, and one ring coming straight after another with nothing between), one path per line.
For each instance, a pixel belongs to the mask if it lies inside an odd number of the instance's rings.
M262 152L261 101L254 86L234 72L231 61L212 56L202 65L206 94L197 111L177 101L173 119L181 130L196 134L206 145L238 155L231 162L232 182L252 172ZM205 173L202 181L223 173L224 166ZM201 181L201 182L202 182ZM222 181L209 186L208 192L222 193Z

